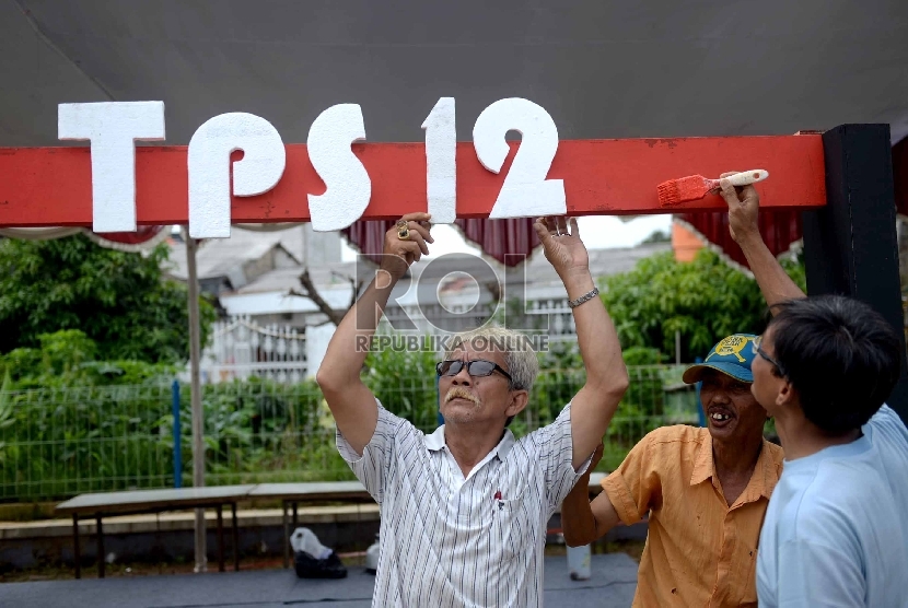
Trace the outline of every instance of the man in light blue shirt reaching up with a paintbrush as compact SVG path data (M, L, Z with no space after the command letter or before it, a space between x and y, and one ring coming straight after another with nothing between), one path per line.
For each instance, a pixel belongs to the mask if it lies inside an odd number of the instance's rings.
M757 229L753 186L722 184L732 236L775 317L750 390L785 452L757 551L760 607L908 607L908 430L884 400L896 329L841 296L806 299Z

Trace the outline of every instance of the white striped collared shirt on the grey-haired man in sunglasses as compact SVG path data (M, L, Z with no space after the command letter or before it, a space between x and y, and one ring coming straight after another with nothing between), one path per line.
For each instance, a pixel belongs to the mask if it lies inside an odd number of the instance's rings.
M381 402L362 457L338 432L340 455L381 505L372 606L542 606L546 527L581 475L570 411L520 441L505 430L466 478L444 426L427 435Z

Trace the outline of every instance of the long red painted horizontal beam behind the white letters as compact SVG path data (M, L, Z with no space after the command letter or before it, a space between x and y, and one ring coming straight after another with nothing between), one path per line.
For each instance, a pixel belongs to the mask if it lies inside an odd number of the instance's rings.
M472 142L457 144L457 217L486 218L514 150L501 173L487 171ZM362 143L353 150L372 179L364 220L393 219L424 210L426 155L422 143ZM656 185L700 174L765 168L757 185L767 208L826 204L823 142L816 133L773 137L566 140L549 171L563 179L569 214L642 214L725 208L718 195L672 208L659 206ZM140 147L136 153L139 224L188 222L186 147ZM306 195L325 186L304 144L287 145L280 183L260 196L234 197L233 222L309 220ZM0 227L91 226L89 148L0 148Z

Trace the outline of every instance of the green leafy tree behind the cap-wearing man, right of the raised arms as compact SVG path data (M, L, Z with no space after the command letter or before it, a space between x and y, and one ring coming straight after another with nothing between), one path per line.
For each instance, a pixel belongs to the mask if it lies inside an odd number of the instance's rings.
M785 270L804 289L802 265L785 260ZM768 311L757 282L710 252L679 262L671 252L642 259L630 272L604 281L603 301L621 347L675 352L680 332L682 359L692 361L722 337L760 334Z

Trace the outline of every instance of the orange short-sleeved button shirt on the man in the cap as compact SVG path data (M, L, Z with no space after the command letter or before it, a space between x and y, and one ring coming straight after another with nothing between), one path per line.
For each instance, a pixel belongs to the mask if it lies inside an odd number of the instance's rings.
M708 429L665 426L643 437L602 481L625 524L650 514L633 606L756 606L757 542L783 458L764 440L730 507Z

